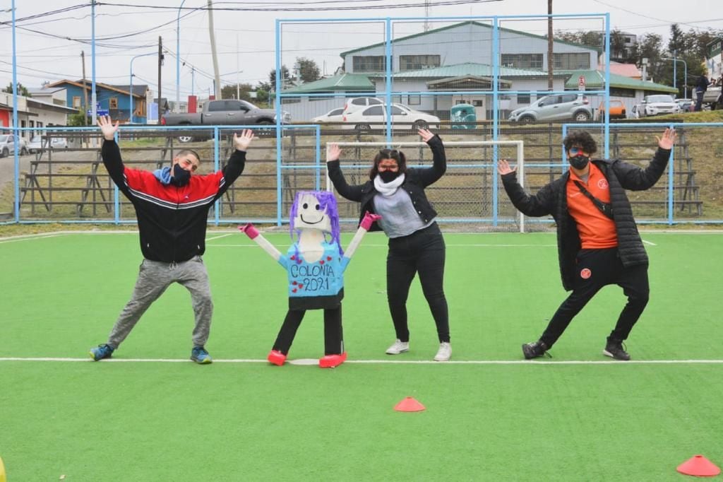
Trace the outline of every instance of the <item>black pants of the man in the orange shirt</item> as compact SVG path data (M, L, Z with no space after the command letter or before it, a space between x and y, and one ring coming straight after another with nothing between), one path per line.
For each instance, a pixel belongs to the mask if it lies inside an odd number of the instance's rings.
M552 347L570 321L580 310L607 284L617 284L623 288L628 303L617 318L611 339L624 340L640 318L648 304L650 288L648 285L648 266L625 268L617 248L581 250L578 253L576 284L568 299L557 308L555 316L549 321L540 340Z

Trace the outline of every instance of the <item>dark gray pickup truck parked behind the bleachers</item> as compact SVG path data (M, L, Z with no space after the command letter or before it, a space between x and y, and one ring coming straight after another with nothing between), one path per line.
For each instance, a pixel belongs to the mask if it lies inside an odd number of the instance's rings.
M291 114L283 112L283 124L291 122ZM162 125L270 125L276 123L276 112L273 109L260 109L247 101L228 99L208 101L203 104L203 111L195 114L165 114L161 118ZM208 134L206 134L208 136ZM196 137L202 136L199 133ZM194 136L184 133L178 140L182 143L191 142Z

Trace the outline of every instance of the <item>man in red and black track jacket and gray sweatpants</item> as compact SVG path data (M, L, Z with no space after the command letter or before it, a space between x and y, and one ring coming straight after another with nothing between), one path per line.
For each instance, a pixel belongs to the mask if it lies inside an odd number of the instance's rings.
M124 166L114 140L118 122L113 124L108 117L100 117L98 125L105 139L101 150L103 164L136 211L143 261L131 300L121 311L108 342L91 349L90 356L95 361L110 358L151 303L176 282L191 293L195 315L191 360L211 363L205 343L213 302L208 272L201 258L205 252L208 211L244 171L246 150L254 135L251 130L244 130L240 136L234 134L236 151L223 170L194 175L200 158L191 150L180 151L171 167L155 172Z

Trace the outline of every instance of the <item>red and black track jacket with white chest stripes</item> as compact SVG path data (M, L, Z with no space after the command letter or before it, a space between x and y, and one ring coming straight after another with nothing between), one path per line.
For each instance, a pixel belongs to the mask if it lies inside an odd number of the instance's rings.
M114 140L105 140L103 164L133 203L143 256L165 263L188 261L206 250L208 210L244 171L246 153L234 151L223 170L192 175L184 187L163 185L153 172L124 166Z

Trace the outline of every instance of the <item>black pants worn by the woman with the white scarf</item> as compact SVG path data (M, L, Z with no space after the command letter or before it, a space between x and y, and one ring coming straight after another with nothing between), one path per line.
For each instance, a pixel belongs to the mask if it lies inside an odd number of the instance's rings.
M389 240L387 254L387 300L397 338L409 341L406 300L414 275L419 273L422 292L432 310L440 342L450 341L447 298L442 284L445 274L445 240L433 223L403 237Z

